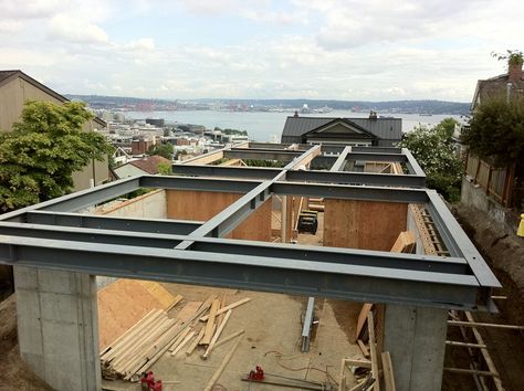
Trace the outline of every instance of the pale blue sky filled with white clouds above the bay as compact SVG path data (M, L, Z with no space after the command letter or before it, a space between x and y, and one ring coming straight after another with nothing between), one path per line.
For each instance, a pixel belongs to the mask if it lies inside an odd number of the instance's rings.
M0 0L0 68L60 93L447 99L523 50L514 0Z

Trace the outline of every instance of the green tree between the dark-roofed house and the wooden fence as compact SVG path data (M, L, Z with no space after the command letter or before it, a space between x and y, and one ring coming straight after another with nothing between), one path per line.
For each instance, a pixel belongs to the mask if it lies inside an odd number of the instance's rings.
M449 201L460 194L462 161L454 151L452 135L457 120L446 118L434 127L419 125L405 135L400 147L408 148L426 172L426 184Z

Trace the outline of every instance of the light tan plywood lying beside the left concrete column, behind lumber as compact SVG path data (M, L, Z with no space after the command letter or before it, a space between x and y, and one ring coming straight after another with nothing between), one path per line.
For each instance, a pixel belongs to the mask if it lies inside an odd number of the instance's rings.
M143 283L120 278L98 290L101 349L116 340L151 309L165 309L172 303L174 296L159 284Z

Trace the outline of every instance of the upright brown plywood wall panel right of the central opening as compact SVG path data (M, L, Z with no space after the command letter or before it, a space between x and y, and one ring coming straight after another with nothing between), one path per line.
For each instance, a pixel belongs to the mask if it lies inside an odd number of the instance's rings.
M324 245L390 251L406 231L408 205L325 199Z

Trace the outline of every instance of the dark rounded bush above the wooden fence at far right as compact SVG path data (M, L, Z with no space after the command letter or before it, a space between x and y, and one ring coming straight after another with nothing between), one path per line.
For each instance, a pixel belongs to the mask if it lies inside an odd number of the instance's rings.
M524 158L524 98L494 96L476 106L462 142L495 166L505 167Z

